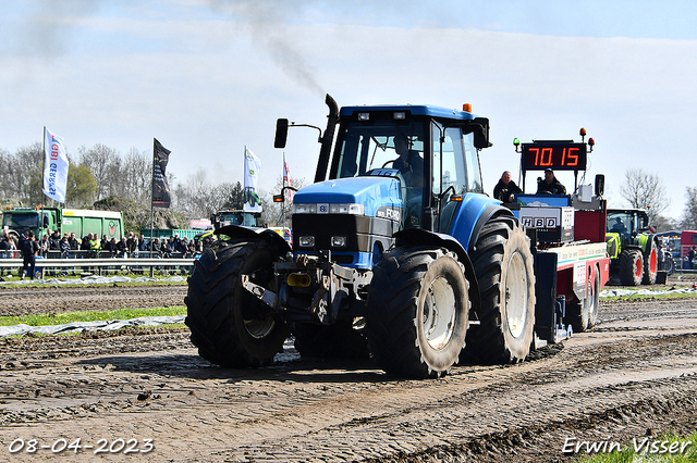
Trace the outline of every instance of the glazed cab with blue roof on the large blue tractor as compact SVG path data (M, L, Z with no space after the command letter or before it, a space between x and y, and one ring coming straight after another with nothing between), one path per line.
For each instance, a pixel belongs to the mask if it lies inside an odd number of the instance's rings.
M399 179L401 228L438 230L452 201L482 192L475 130L488 120L436 107L348 107L341 111L329 178ZM482 137L484 138L484 137ZM456 197L456 198L454 198Z

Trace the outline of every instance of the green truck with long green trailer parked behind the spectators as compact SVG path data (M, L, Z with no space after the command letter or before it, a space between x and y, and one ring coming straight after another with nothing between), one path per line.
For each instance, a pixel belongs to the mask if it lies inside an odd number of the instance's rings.
M30 230L38 239L47 230L58 230L61 236L74 233L82 238L91 233L120 240L123 236L123 216L121 212L113 211L9 207L2 211L2 228L15 238Z

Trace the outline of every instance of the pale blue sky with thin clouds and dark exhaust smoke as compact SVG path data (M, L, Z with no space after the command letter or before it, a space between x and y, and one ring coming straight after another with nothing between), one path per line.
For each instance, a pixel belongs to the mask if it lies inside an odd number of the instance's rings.
M424 103L491 121L485 188L517 182L515 137L596 140L587 182L662 178L678 217L695 186L697 3L690 1L64 0L0 7L0 149L39 141L172 150L186 180L242 180L244 147L281 174L277 117L323 126L340 105ZM291 174L310 182L317 133L293 130ZM567 186L571 177L560 178ZM534 178L528 174L528 185Z

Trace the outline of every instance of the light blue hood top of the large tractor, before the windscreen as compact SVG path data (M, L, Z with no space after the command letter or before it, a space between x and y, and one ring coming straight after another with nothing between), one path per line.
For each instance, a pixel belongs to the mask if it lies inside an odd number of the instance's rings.
M329 204L362 204L363 214L369 217L380 216L386 209L403 207L400 180L382 176L338 178L309 185L293 197L294 208L301 204L315 204L318 214L329 213Z

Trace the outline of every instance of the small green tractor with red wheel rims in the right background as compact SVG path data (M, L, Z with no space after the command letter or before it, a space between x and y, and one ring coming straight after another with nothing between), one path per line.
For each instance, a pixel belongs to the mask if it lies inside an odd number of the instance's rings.
M658 237L643 209L608 209L606 233L610 279L624 286L652 285L658 275Z

